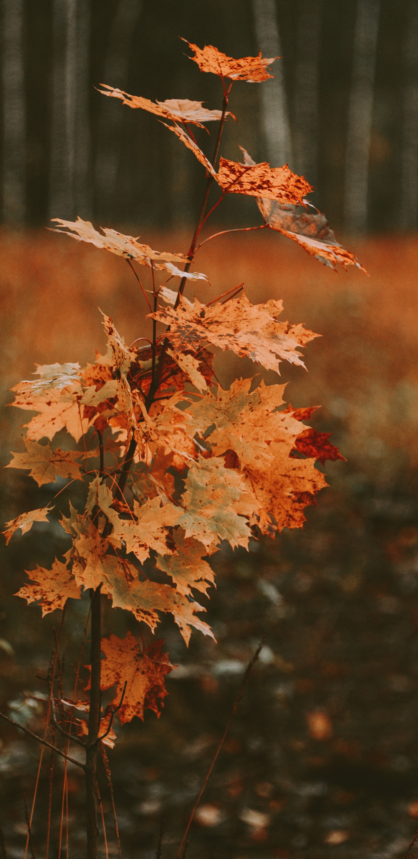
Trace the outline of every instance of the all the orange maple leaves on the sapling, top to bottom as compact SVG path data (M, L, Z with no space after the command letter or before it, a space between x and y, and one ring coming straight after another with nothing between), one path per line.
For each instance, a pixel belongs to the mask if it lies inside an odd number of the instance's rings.
M311 189L304 177L292 174L287 165L255 164L245 150L243 163L221 157L217 171L216 157L213 164L208 161L188 128L220 120L222 131L231 115L226 111L231 83L267 80L273 59L260 54L235 60L212 46L203 51L190 47L200 70L221 77L222 111L187 100L154 104L109 86L102 93L171 121L167 127L206 168L208 188L212 180L218 183L218 202L227 192L256 197L266 226L298 241L327 265L360 265L338 245L323 216L306 213L304 195ZM326 485L316 461L342 459L328 434L303 423L313 409L284 408L285 386L266 386L259 375L260 366L279 373L280 361L304 367L300 349L317 335L280 321L282 302L275 299L253 305L235 288L209 304L192 303L182 295L187 281L207 280L205 274L189 271L203 214L186 255L158 253L114 229L100 233L80 218L55 219L60 231L77 241L151 270L148 291L135 274L151 311L154 336L148 344L138 347L134 341L127 347L113 321L102 314L108 336L105 356L97 355L83 368L78 363L38 366L36 381L14 388L13 405L36 414L25 424L25 452L13 454L8 467L27 470L40 486L56 478L68 478L69 490L74 481L86 484L84 509L70 502L70 515L61 515L69 550L51 570L30 570L30 583L18 592L28 602L39 601L43 614L100 586L114 607L132 612L152 632L160 615L171 613L186 643L192 627L212 636L195 593L206 594L214 584L210 558L221 541L246 548L250 538L301 527L304 508ZM181 277L177 291L167 281L157 284L162 272L169 279ZM225 295L229 297L222 301ZM158 333L157 326L167 327ZM220 387L212 366L217 350L249 358L254 378L235 381L230 390ZM63 429L77 450L51 447ZM18 529L25 533L34 522L48 521L51 510L31 510L8 522L7 541ZM112 704L126 683L121 722L143 718L146 707L159 713L166 694L164 675L172 668L162 645L156 641L144 648L131 633L125 639L112 635L102 640L101 685L114 688ZM60 706L88 709L86 702L64 699ZM110 713L103 713L103 728L110 724ZM81 734L87 733L83 718L77 725ZM113 739L109 732L108 742Z

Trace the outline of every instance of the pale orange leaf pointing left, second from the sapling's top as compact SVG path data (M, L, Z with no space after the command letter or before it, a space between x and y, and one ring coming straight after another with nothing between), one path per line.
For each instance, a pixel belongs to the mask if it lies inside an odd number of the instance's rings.
M109 95L114 99L120 99L124 105L128 107L141 107L149 113L155 113L156 116L163 116L164 119L172 119L173 122L185 122L198 125L199 128L205 128L202 125L204 122L213 122L221 119L222 111L208 110L203 107L203 101L189 101L188 99L166 99L165 101L150 101L144 99L141 95L130 95L124 92L123 89L109 87L107 83L101 83L104 89L97 91L101 95ZM106 92L106 90L108 90ZM225 117L232 116L236 119L233 113L229 111L225 113Z

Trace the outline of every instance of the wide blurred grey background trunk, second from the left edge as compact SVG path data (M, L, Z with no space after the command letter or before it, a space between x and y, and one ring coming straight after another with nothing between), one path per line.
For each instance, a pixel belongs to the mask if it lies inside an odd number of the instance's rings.
M49 216L90 216L89 3L54 0Z

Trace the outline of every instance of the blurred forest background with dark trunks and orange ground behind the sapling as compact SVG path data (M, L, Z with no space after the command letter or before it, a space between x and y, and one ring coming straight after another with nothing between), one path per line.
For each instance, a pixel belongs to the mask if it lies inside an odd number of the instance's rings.
M158 250L187 250L203 168L155 117L95 90L104 82L151 100L219 107L218 79L184 56L178 36L234 57L260 47L282 57L274 80L234 85L238 123L226 125L223 155L238 160L241 144L255 160L288 161L305 174L337 239L370 274L335 275L267 231L224 236L199 252L211 282L196 288L201 301L245 281L251 301L283 298L285 318L323 335L305 350L309 373L281 365L280 378L292 405L323 405L310 423L334 432L347 463L327 464L329 489L307 510L302 531L254 541L249 553L223 546L214 557L217 590L206 606L217 645L194 633L187 651L175 625L163 622L179 666L167 679L163 714L118 729L109 752L123 856L153 859L166 808L163 859L174 859L263 633L266 647L187 859L403 856L418 818L418 0L1 0L0 26L4 404L34 362L83 363L94 360L95 346L103 351L97 304L127 343L149 331L126 263L45 227L51 217L80 215ZM213 131L199 131L198 141L210 157ZM231 195L214 220L236 227L260 216L254 199ZM217 368L224 386L253 370L231 355ZM21 424L21 412L2 409L4 466L10 449L22 449ZM7 521L45 506L57 486L39 490L22 472L2 469L0 490ZM40 523L0 551L0 703L38 732L45 684L37 671L46 672L60 615L41 622L40 608L13 594L24 570L49 566L65 548L58 525ZM69 670L82 603L65 620ZM105 624L119 635L129 624L138 636L119 609L108 610ZM11 859L24 856L22 794L30 804L38 759L36 744L2 728L0 824ZM36 856L45 853L49 765L35 807ZM75 767L69 776L69 855L77 859L83 783ZM55 779L51 857L58 762Z

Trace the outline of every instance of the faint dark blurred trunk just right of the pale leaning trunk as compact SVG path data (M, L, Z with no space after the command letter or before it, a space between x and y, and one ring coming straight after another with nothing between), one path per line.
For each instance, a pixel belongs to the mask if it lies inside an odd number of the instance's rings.
M301 0L295 68L294 170L313 186L317 186L320 24L321 0Z

